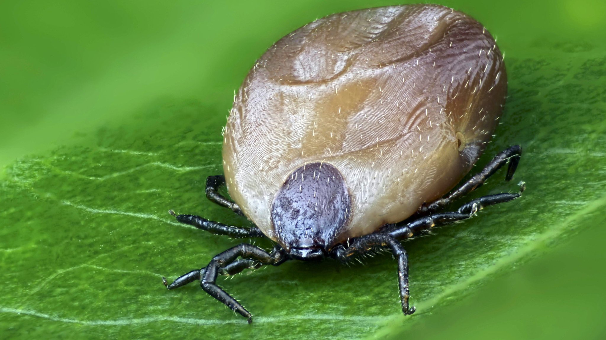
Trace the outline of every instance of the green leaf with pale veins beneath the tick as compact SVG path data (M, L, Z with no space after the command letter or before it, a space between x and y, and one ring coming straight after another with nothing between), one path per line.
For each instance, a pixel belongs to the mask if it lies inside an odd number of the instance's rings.
M480 169L520 143L519 200L405 243L415 315L401 315L390 255L247 271L219 284L253 324L197 284L170 279L239 240L176 223L168 209L250 222L204 198L220 174L224 108L156 102L98 129L82 145L28 156L0 188L0 332L19 338L365 338L405 332L456 306L481 284L547 246L603 221L606 206L606 53L591 43L539 40L507 57L509 97ZM499 172L466 201L515 191ZM259 245L269 247L266 241Z

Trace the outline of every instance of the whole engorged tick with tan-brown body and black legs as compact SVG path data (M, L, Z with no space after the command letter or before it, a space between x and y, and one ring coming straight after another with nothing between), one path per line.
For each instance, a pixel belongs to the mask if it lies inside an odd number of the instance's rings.
M202 289L248 321L216 286L267 264L325 257L347 262L387 248L398 260L402 312L408 257L399 240L465 220L503 193L441 210L505 163L511 180L520 146L467 174L501 116L507 93L502 54L481 24L438 5L370 8L327 16L276 42L248 73L224 131L225 176L208 177L211 201L255 226L175 215L215 234L267 237L267 252L240 244L169 284ZM235 201L218 193L226 184ZM447 195L445 195L447 194ZM445 195L445 196L444 196ZM405 221L405 222L402 222Z

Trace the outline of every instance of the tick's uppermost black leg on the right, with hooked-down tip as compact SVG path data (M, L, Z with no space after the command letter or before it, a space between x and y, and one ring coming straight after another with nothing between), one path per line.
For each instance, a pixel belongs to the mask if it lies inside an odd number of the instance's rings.
M440 208L444 208L450 204L451 201L456 200L457 198L462 197L471 191L474 191L476 188L484 184L484 181L487 180L488 177L493 175L494 172L500 169L501 166L504 166L507 162L509 162L509 166L507 168L505 180L511 180L514 172L516 172L516 168L518 168L520 155L522 155L522 147L519 145L510 146L510 148L499 152L499 154L494 156L494 159L491 160L490 163L488 163L488 165L486 165L484 169L479 172L479 174L475 174L470 178L470 180L445 197L439 198L428 205L421 206L418 211L419 214L425 215Z

